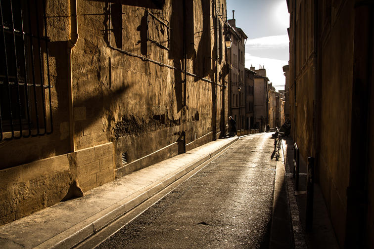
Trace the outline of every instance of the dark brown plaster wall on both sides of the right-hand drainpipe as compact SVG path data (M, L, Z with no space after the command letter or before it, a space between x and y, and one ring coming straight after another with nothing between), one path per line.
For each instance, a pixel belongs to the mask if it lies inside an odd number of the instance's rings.
M350 174L351 105L353 82L353 1L327 1L319 4L318 56L320 77L317 86L313 75L313 9L312 2L290 2L290 119L292 135L304 161L316 156L313 147L313 119L318 119L319 141L317 173L327 209L340 246L344 247L347 187ZM293 11L296 10L296 13ZM296 16L295 16L296 15ZM296 19L296 40L295 23ZM294 43L296 42L296 43ZM295 57L294 57L295 55ZM296 78L295 78L296 77ZM293 82L295 80L295 82ZM314 92L321 85L321 103ZM320 116L313 116L317 105ZM320 105L320 110L318 106Z

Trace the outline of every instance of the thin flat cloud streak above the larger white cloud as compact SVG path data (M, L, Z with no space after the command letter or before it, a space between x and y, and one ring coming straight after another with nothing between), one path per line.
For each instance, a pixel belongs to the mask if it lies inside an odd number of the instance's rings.
M288 48L288 42L287 35L248 39L245 43L245 50Z

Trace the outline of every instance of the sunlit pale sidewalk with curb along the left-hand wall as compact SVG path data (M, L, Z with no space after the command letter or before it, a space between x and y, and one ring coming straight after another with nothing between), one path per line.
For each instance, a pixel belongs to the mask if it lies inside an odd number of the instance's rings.
M238 139L212 141L0 226L0 248L71 248Z

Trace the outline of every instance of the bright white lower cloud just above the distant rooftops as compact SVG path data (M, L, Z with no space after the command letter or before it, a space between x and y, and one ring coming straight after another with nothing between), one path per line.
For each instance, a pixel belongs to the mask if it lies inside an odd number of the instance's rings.
M287 65L288 61L278 60L271 58L263 58L258 56L253 56L249 53L245 53L245 67L250 68L253 65L256 69L265 66L266 75L273 86L276 87L277 91L284 89L285 77L283 75L283 66Z

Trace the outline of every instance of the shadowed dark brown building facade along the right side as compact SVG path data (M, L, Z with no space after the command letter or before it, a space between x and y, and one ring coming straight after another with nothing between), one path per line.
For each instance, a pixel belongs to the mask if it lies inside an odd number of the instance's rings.
M315 158L340 247L374 248L373 2L287 4L291 135Z

